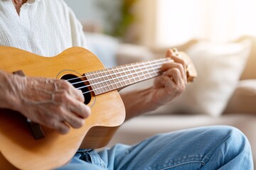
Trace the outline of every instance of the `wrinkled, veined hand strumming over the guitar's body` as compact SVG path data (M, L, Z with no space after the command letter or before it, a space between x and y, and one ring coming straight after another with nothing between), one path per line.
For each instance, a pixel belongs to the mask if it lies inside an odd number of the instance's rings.
M14 76L12 93L15 110L35 123L66 134L70 127L81 128L90 115L82 91L68 81L41 77Z

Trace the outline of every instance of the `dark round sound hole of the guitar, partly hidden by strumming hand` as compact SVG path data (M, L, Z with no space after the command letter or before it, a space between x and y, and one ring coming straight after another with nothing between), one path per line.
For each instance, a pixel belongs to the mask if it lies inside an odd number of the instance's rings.
M61 79L68 80L71 84L73 84L73 86L75 86L76 89L82 87L80 90L82 91L82 94L85 98L85 104L90 103L90 100L92 97L90 95L90 92L88 92L89 89L87 87L85 87L86 84L84 82L82 82L83 81L82 79L76 77L73 74L66 74L63 77L61 77Z

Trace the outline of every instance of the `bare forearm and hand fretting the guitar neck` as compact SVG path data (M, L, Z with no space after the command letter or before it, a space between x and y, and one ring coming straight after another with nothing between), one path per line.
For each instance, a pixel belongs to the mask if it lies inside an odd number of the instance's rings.
M185 90L187 84L185 61L176 56L172 50L166 53L166 57L171 57L174 62L161 67L164 74L156 77L154 86L142 91L121 94L127 113L126 120L148 111L154 111Z

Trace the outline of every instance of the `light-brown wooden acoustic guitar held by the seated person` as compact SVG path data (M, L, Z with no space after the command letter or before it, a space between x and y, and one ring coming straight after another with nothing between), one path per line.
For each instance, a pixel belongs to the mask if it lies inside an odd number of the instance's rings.
M186 57L188 81L196 69ZM92 52L71 47L55 57L41 57L15 47L0 46L0 69L29 77L65 79L82 90L92 113L80 129L67 135L31 123L20 113L0 110L1 169L55 169L67 164L80 148L105 147L119 125L125 109L117 89L157 77L161 65L173 62L161 58L105 69Z

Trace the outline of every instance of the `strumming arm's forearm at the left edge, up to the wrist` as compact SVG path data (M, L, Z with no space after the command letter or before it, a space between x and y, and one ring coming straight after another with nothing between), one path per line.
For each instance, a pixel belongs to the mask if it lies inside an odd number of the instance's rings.
M14 75L0 70L0 108L14 109Z

